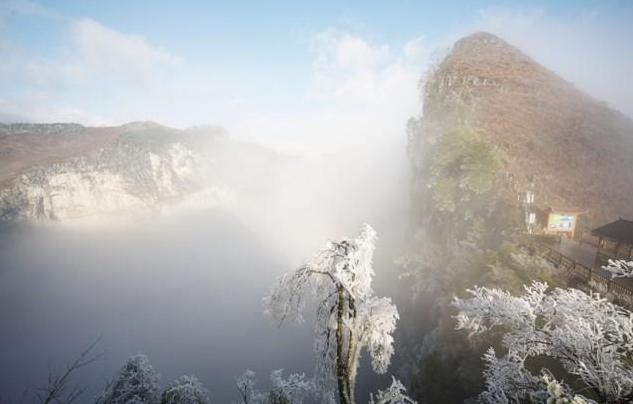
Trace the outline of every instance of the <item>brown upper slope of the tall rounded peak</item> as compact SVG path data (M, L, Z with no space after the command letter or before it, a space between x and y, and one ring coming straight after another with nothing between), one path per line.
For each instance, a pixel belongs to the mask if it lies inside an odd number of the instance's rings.
M533 184L541 207L586 209L593 224L633 217L633 121L494 35L459 40L427 78L410 124L422 187L434 186L446 168L437 151L460 130L498 158L495 196L516 202Z

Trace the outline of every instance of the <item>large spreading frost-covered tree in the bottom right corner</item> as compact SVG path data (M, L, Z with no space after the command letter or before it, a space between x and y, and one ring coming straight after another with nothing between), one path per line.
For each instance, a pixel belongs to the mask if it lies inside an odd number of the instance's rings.
M458 329L470 336L497 326L508 330L503 337L507 354L497 358L491 350L484 356L487 390L481 401L550 402L547 398L558 394L560 402L591 402L549 373L529 372L526 361L537 356L559 361L600 402L633 400L633 314L628 310L577 289L547 293L540 282L526 286L522 296L485 287L468 292L471 298L453 302Z

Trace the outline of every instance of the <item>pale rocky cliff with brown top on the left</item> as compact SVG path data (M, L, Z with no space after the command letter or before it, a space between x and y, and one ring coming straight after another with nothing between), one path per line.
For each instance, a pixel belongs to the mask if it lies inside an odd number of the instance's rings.
M0 125L0 220L147 211L208 191L220 129Z

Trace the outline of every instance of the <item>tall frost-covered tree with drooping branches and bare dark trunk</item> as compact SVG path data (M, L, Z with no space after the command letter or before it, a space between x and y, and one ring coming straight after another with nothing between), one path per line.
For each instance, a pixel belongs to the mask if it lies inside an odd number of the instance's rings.
M306 298L316 301L315 377L323 401L354 402L358 360L363 348L377 373L393 354L398 311L372 290L376 232L365 225L355 239L330 241L308 263L284 274L264 299L266 313L282 325L303 321Z

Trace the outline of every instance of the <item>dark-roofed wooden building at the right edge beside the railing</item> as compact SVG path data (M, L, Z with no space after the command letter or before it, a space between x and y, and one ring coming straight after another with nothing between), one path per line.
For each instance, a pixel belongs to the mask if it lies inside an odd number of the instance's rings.
M598 238L598 268L606 265L609 259L633 258L633 221L620 218L592 230L591 233Z

